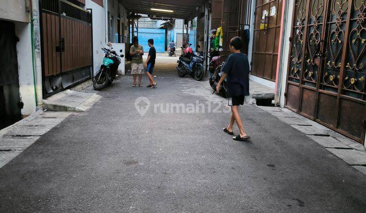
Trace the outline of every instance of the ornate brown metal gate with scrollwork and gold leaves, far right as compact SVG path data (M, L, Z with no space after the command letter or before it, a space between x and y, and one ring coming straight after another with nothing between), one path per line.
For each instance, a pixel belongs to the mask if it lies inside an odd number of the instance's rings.
M364 143L364 0L297 0L286 107Z

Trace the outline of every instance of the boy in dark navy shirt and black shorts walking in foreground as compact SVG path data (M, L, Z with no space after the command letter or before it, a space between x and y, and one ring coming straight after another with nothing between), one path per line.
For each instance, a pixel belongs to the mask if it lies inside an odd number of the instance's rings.
M234 136L234 140L249 140L250 136L245 132L240 115L238 113L238 105L244 104L245 96L249 95L249 61L246 54L240 52L242 46L239 37L230 40L231 54L226 59L223 66L223 72L216 91L221 88L222 82L227 78L227 91L229 104L231 106L231 119L229 126L224 128L224 132L233 135L232 127L234 122L239 127L239 134Z

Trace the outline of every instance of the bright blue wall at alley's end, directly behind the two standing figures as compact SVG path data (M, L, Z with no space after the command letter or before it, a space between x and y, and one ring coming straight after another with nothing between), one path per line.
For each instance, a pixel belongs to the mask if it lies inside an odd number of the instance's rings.
M135 35L137 32L135 31ZM139 44L142 45L144 52L150 49L147 40L154 39L154 47L158 53L165 52L165 29L139 28Z

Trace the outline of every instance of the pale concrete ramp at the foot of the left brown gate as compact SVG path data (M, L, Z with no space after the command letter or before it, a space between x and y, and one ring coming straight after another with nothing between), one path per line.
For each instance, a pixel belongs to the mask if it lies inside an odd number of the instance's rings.
M68 89L43 99L43 109L58 112L84 112L100 98L101 96L96 93Z

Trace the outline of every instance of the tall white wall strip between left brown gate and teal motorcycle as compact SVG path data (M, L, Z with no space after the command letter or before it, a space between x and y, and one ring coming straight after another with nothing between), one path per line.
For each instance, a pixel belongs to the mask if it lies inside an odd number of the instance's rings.
M94 3L92 0L85 1L85 9L93 9L93 64L94 75L97 74L103 62L105 47L105 16L104 8Z

